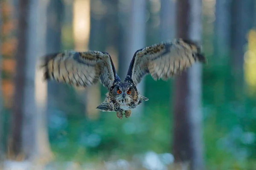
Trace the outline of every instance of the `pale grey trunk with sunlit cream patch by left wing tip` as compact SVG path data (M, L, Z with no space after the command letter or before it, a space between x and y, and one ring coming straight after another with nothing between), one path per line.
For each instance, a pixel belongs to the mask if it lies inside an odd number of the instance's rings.
M47 83L38 69L38 57L45 55L46 0L31 0L26 62L26 83L23 120L23 150L32 161L49 161L46 117Z

